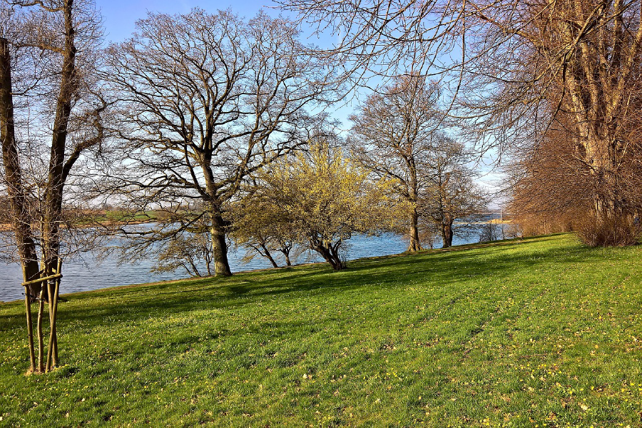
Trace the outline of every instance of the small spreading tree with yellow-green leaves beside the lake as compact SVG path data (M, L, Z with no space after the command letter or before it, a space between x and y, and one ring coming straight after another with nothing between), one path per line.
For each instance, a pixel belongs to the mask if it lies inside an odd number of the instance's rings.
M280 230L319 253L334 270L345 268L342 250L355 233L377 235L392 230L399 210L392 180L370 179L370 170L343 156L327 141L282 158L258 173L245 203L263 230Z

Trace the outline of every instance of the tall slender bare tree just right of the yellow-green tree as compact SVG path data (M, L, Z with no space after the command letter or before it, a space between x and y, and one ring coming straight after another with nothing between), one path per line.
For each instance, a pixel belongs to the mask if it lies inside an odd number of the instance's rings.
M350 147L354 156L379 177L394 177L409 212L408 251L422 250L417 202L429 185L427 161L432 134L442 124L437 110L439 86L419 76L395 78L382 93L367 98L357 114Z

